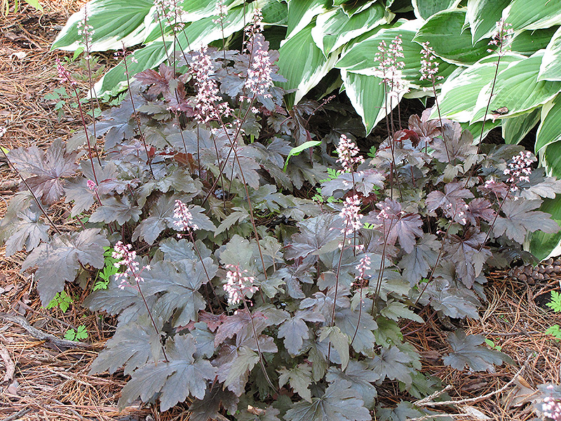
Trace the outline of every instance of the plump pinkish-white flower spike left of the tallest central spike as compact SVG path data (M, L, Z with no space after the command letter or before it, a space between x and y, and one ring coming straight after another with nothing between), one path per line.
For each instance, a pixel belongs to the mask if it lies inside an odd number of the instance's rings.
M218 85L212 74L214 73L214 65L208 56L207 47L201 47L201 51L193 54L191 61L191 70L194 72L195 85L197 87L196 119L201 123L207 123L210 120L219 120L221 114L231 114L231 109L227 102L215 105L215 102L221 100Z

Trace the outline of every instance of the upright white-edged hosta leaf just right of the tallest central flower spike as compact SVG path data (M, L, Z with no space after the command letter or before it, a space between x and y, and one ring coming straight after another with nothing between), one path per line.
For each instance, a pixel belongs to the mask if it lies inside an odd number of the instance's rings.
M337 54L325 58L321 50L316 46L311 37L312 25L302 29L292 36L280 47L280 58L278 73L285 76L287 82L278 83L278 86L286 90L296 89L295 94L290 95L288 102L297 104L299 100L323 79L337 61ZM292 100L294 95L294 100ZM292 105L292 104L290 104Z

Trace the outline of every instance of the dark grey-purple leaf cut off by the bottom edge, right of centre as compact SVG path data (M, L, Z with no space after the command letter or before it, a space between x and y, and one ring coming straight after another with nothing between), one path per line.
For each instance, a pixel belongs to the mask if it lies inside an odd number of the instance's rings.
M325 390L320 398L311 403L301 401L293 404L285 414L287 421L370 421L370 413L364 402L352 389L351 382L339 380Z

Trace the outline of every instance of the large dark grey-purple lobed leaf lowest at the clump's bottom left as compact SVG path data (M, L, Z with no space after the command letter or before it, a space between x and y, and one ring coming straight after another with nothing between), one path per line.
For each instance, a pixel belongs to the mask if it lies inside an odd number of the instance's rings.
M216 368L209 361L195 360L191 335L176 335L165 346L170 361L148 363L135 370L133 378L123 387L119 407L139 398L148 401L158 394L160 409L168 410L191 395L203 399L207 380L213 380Z

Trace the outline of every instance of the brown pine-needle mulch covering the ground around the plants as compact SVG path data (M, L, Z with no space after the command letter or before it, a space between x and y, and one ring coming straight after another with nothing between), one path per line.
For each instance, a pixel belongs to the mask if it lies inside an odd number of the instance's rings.
M56 138L67 139L69 133L81 128L76 110L65 107L59 121L54 101L44 96L60 86L55 59L69 56L50 52L50 43L83 0L41 3L46 5L42 15L27 7L0 16L0 126L8 129L0 144L7 149L45 146ZM69 68L83 72L75 64ZM15 175L0 161L0 218L16 185ZM66 211L61 204L57 223L68 224ZM1 420L188 419L187 405L163 414L154 406L140 404L119 412L116 402L127 380L122 371L88 375L90 363L111 336L112 320L81 309L78 302L83 291L76 286L67 289L75 296L76 305L66 313L44 309L34 291L33 276L19 272L25 255L5 258L0 248L0 256ZM544 331L561 323L561 316L545 307L550 290L558 290L561 276L553 275L531 286L504 273L491 274L489 279L487 307L482 309L480 320L466 321L463 326L468 333L485 335L502 347L513 365L498 367L496 373L459 373L443 366L441 357L448 352L447 323L429 309L423 314L427 323L410 323L403 332L421 352L424 373L450 385L447 393L457 401L432 409L465 414L454 417L457 420L531 420L534 415L529 402L536 386L560 382L560 345ZM88 329L86 347L68 347L60 341L68 328L80 325ZM398 403L396 396L411 400L397 385L389 384L380 391L386 405Z

